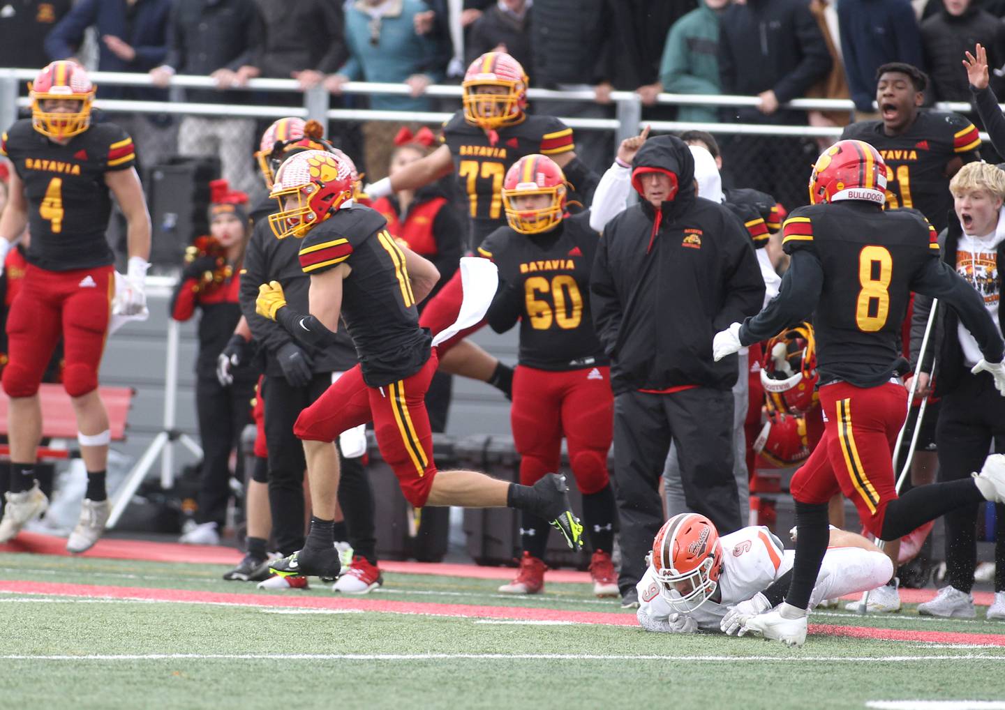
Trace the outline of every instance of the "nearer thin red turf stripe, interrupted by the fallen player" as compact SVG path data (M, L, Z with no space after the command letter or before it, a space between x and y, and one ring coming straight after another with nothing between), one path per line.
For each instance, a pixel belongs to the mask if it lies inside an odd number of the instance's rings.
M64 584L44 581L0 581L0 593L48 595L71 598L104 598L139 600L144 602L233 605L240 607L273 607L295 609L358 610L390 614L422 614L435 617L473 617L476 619L514 619L520 621L570 622L606 626L634 627L635 617L611 612L565 612L529 607L482 607L416 602L389 602L376 599L347 597L290 597L248 594L193 591L189 589L154 589L98 584ZM810 634L842 636L855 639L967 644L1005 647L1005 636L999 634L967 634L944 631L898 631L870 627L830 626L811 624Z

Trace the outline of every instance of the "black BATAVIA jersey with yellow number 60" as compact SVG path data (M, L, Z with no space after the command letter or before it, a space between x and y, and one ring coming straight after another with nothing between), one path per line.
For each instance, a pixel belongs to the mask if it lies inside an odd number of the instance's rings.
M568 371L608 364L590 314L590 269L599 239L583 212L544 234L500 227L478 247L499 270L488 322L501 331L520 319L521 365Z

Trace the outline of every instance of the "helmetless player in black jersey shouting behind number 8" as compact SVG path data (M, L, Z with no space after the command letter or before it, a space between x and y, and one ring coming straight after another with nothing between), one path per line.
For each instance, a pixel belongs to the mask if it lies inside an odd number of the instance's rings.
M880 121L859 121L841 139L874 146L886 164L886 207L913 207L941 232L953 210L949 181L965 163L981 159L981 137L969 119L922 110L929 77L921 69L890 62L876 69Z

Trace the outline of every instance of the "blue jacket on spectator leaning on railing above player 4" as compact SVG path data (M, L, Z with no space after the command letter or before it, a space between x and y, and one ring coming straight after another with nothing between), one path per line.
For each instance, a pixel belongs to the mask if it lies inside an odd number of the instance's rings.
M150 71L164 62L168 53L168 18L171 0L137 0L130 26L125 2L79 0L45 37L45 51L52 59L73 56L83 41L83 32L97 30L97 68L99 71ZM130 31L132 30L132 31ZM115 35L136 50L133 61L120 59L102 40ZM129 89L121 86L98 87L103 98L145 98L165 100L160 89Z

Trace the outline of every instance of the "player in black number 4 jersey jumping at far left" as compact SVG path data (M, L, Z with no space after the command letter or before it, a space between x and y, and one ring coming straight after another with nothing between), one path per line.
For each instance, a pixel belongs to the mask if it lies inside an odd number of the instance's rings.
M133 140L114 124L90 124L94 86L72 61L54 61L30 84L31 119L0 141L10 159L10 201L0 217L0 263L27 225L31 244L24 284L7 319L10 362L3 389L10 402L11 485L0 542L16 535L48 505L34 481L42 431L38 385L63 338L63 387L73 403L87 491L66 549L88 549L105 529L109 417L97 370L113 301L120 313L145 307L150 215L134 165ZM115 255L105 231L115 195L126 215L129 275L117 295Z

